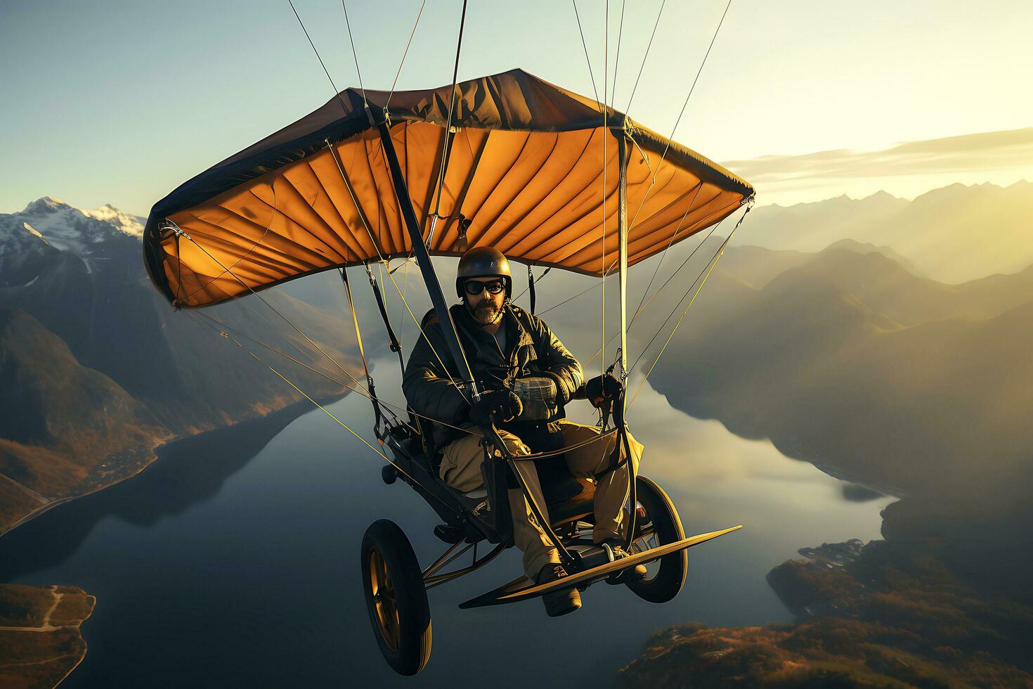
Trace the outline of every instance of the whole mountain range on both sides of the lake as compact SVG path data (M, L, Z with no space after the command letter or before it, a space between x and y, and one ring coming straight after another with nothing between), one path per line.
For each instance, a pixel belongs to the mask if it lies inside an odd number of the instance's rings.
M659 632L622 686L1028 681L1033 666L1013 639L1033 633L1030 205L1033 185L1019 183L752 212L650 381L693 416L901 500L883 512L885 541L855 563L772 572L797 624ZM346 374L261 301L174 311L140 264L142 222L53 197L0 214L0 533L132 475L169 439L300 399L249 351L314 397L344 390L332 379ZM692 240L635 269L629 306L649 307L628 337L632 385L720 246ZM593 373L597 283L554 272L537 290L538 312ZM384 285L397 307L393 290ZM418 314L426 297L412 295ZM263 296L357 375L336 276ZM364 323L376 318L359 308Z

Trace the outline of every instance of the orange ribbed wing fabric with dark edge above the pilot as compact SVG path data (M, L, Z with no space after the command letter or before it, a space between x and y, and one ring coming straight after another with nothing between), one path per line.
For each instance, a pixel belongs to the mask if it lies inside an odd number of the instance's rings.
M611 111L603 127L594 100L526 72L457 88L434 255L494 246L510 260L595 276L615 270L620 135L629 137L629 265L662 251L676 230L675 242L690 237L753 195L744 180L620 113ZM390 100L392 140L425 238L449 89L398 92ZM343 107L335 97L155 205L145 262L169 301L207 306L409 254L376 129L361 94L349 89L341 96ZM367 96L379 113L388 94ZM471 221L465 231L460 216Z

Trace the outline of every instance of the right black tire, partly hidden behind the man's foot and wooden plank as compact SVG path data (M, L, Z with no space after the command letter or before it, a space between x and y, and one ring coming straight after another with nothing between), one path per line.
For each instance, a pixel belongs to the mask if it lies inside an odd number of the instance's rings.
M638 504L646 511L645 518L640 512L637 515L635 531L640 533L652 525L655 536L646 536L635 540L632 543L632 549L635 552L685 538L685 530L682 529L682 521L678 518L675 503L670 501L662 488L646 476L638 476L635 479L635 493ZM647 540L650 542L646 542ZM652 603L665 603L677 596L685 585L685 575L689 570L689 554L682 550L665 555L659 561L648 565L647 568L649 573L646 578L629 582L628 588L643 600Z

